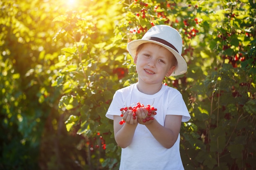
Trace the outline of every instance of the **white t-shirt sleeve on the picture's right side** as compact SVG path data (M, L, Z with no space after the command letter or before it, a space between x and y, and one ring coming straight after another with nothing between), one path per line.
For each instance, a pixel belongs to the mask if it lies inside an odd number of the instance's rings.
M182 122L189 121L191 116L182 98L181 93L177 93L169 102L166 115L181 115Z

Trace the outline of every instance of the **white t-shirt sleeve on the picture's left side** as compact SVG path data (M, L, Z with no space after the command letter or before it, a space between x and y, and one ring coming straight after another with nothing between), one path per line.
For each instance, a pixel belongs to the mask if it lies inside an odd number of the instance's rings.
M109 119L114 119L114 115L121 115L120 108L124 107L124 100L119 91L116 91L116 93L113 96L112 102L108 108L108 111L106 113L106 117Z

